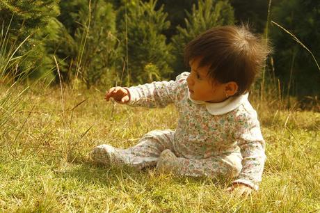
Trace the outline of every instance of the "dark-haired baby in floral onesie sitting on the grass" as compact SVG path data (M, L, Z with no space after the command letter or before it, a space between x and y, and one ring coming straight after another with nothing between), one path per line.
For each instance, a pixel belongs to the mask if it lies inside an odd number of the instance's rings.
M107 165L157 166L177 175L232 178L229 191L257 190L264 169L265 142L248 91L269 53L245 26L219 26L184 49L191 72L175 81L130 88L113 87L105 96L131 106L165 107L179 113L175 131L154 130L127 149L98 145L91 158Z

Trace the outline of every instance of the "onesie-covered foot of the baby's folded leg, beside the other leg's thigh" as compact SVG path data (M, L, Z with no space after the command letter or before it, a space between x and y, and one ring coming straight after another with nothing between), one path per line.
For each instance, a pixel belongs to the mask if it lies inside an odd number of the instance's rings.
M157 171L161 173L175 172L179 165L178 158L170 150L161 152L158 163Z

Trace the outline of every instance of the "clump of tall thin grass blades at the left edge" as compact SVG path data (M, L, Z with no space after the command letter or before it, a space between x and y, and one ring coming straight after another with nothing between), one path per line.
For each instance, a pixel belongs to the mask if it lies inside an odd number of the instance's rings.
M19 64L27 58L29 52L17 56L17 51L31 35L24 38L19 44L17 44L17 38L10 41L9 31L12 20L13 17L6 31L4 30L5 24L2 24L0 35L0 132L2 136L15 129L19 123L15 114L22 109L23 95L29 89L29 86L21 87L19 82L26 79L31 73L30 70L19 70Z

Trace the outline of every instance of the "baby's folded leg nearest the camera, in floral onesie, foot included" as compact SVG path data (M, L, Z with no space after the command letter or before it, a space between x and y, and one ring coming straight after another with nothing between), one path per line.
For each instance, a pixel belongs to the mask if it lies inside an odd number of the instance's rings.
M157 170L191 177L234 178L242 169L241 160L241 154L237 152L206 159L186 159L176 157L170 150L164 150L159 158Z

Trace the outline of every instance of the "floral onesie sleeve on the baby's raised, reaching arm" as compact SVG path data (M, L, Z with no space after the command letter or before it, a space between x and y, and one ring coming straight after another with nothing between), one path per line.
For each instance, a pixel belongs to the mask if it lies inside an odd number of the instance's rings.
M175 81L154 81L151 84L126 88L130 93L127 104L140 107L166 107L175 102L177 90L184 86L188 75L189 72L183 72Z

